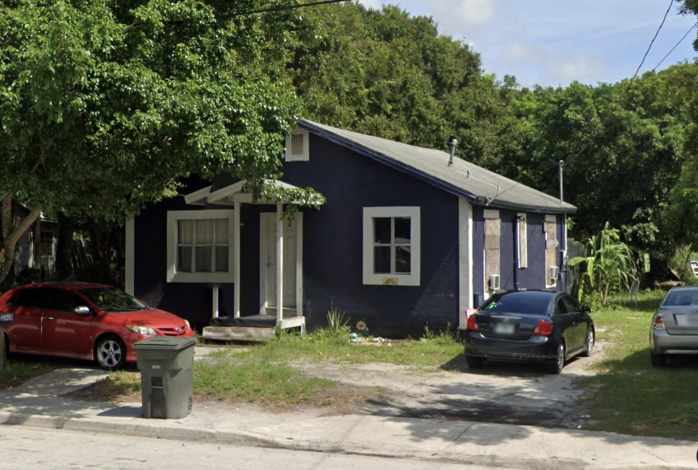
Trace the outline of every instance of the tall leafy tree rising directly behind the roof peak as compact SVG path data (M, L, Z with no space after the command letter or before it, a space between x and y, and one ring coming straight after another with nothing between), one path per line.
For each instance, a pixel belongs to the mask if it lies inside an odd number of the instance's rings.
M493 149L503 87L431 18L396 6L309 8L292 52L288 68L309 119L436 149L454 136L458 155L473 161Z

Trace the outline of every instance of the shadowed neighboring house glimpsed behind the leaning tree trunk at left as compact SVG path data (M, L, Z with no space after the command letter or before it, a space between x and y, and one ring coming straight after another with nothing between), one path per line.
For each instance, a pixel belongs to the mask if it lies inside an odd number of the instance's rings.
M24 204L15 204L15 223L29 214ZM24 232L15 248L15 275L25 268L41 268L50 273L56 268L58 247L58 222L41 214L34 225Z

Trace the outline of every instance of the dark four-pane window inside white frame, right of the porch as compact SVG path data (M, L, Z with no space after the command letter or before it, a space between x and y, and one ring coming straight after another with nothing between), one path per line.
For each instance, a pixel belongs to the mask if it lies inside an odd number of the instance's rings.
M409 274L410 229L409 217L373 218L373 273Z

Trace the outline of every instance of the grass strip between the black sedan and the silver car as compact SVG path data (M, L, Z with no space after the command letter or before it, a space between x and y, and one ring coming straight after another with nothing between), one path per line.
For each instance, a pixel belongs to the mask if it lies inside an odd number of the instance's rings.
M591 315L597 339L611 342L586 400L597 420L590 430L698 440L698 356L655 368L650 363L652 315L664 291L641 292L637 306L611 301Z

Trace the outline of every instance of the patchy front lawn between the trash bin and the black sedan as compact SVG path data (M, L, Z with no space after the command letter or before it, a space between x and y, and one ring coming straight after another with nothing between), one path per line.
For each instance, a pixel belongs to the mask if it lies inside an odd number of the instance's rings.
M341 386L336 381L309 377L292 361L336 363L394 363L420 370L455 368L463 346L448 335L430 340L351 344L348 335L319 331L304 337L283 334L275 340L251 346L248 351L222 349L208 361L194 363L194 394L207 400L244 401L276 406L314 403L346 404L378 390ZM75 398L98 401L134 401L140 393L138 372L114 372L95 386L78 391Z

